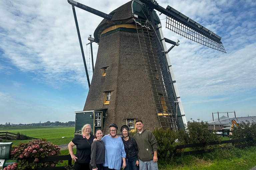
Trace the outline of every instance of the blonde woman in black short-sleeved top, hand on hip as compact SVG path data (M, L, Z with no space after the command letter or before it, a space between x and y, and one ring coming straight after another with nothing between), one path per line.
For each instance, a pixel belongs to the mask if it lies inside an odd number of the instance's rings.
M75 170L89 170L91 160L91 144L94 136L90 135L91 126L86 124L82 128L81 135L77 135L68 144L68 150L73 161ZM73 146L76 145L76 155L73 153Z

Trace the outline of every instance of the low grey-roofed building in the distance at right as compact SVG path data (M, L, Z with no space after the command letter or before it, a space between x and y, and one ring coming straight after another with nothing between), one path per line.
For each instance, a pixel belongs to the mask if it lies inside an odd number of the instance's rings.
M249 122L256 122L256 116L247 116L247 117L238 117L238 118L228 118L226 116L214 119L214 121L208 121L208 128L214 130L222 130L223 128L231 127L231 120L235 120L237 123L249 121Z

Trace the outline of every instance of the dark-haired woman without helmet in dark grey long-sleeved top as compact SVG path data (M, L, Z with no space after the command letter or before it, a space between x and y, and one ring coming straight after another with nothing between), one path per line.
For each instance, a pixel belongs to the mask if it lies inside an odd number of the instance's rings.
M90 169L102 170L102 166L105 158L105 144L101 140L101 138L103 137L101 128L96 129L95 136L97 140L92 143Z

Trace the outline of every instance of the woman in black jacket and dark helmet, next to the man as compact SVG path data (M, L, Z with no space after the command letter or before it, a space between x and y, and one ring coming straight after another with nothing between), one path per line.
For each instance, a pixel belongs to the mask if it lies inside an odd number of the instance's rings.
M139 170L139 150L137 143L133 137L129 136L129 127L127 125L121 127L121 133L123 135L122 140L126 158L128 159L125 170Z

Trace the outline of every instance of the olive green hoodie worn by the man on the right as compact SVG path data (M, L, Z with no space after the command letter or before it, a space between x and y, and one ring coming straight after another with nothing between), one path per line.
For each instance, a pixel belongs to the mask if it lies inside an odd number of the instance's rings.
M145 129L141 133L135 133L133 138L138 145L139 159L141 161L153 160L154 151L157 151L157 141L153 133L150 130Z

